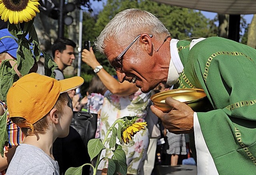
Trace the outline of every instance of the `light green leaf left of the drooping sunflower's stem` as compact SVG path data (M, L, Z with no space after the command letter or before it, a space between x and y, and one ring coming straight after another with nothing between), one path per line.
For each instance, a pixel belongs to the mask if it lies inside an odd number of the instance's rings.
M88 141L88 154L90 155L91 161L103 148L105 148L105 146L101 139L90 139Z

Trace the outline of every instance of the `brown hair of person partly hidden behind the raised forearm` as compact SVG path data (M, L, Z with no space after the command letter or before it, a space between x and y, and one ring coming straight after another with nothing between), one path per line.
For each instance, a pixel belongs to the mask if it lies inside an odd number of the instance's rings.
M90 82L90 86L88 88L88 93L100 93L104 95L105 91L107 90L106 86L102 83L98 76L94 76Z

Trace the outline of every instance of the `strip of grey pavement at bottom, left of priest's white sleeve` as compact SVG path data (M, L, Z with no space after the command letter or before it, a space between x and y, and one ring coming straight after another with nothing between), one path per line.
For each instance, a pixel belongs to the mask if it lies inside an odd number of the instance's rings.
M197 175L196 165L157 165L156 175Z

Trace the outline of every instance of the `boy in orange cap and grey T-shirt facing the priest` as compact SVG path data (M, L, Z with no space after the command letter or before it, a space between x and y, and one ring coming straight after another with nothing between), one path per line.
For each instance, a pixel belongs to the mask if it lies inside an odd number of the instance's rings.
M66 137L73 117L67 91L83 84L81 77L56 80L36 73L14 82L7 94L10 119L22 128L25 138L17 147L6 175L58 175L52 155L57 137Z

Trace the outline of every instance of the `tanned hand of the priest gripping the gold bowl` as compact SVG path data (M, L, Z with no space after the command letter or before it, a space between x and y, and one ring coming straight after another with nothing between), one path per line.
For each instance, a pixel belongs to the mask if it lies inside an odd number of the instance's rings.
M164 127L175 134L192 132L194 111L185 103L172 97L167 97L166 103L172 108L169 113L163 113L153 105L150 107L152 112L162 120Z

